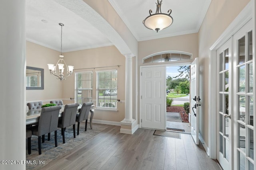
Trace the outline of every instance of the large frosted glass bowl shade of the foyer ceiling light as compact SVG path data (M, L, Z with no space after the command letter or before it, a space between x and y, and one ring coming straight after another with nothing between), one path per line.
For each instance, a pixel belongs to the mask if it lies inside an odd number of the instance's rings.
M162 30L164 28L169 27L172 24L172 17L168 14L153 14L148 16L144 21L143 24L148 29L153 29L156 31Z

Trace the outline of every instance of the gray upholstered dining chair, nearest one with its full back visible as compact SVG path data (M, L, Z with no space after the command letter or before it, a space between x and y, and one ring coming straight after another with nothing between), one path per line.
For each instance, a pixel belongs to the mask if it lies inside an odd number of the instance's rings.
M54 131L55 147L57 144L58 117L61 106L44 107L41 110L38 126L31 127L32 135L38 136L38 152L41 154L41 139L47 133ZM44 142L44 141L43 141Z

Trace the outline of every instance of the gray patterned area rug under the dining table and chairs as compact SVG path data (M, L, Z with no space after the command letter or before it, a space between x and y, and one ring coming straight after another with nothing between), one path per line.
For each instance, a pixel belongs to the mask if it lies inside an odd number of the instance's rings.
M32 136L31 138L31 154L28 154L26 149L26 160L31 162L36 162L36 164L26 164L27 170L41 169L43 166L48 164L50 161L55 160L58 156L62 156L71 149L74 149L81 143L84 143L108 128L108 125L101 125L93 123L92 129L87 126L87 131L85 129L85 122L80 123L79 135L77 135L77 124L76 124L76 138L73 136L73 127L67 127L65 131L65 143L62 143L61 129L58 128L57 140L58 147L55 147L54 143L54 132L51 133L50 141L47 141L48 135L45 135L45 141L42 143L42 154L38 154L38 137ZM42 161L44 164L38 164L38 161Z

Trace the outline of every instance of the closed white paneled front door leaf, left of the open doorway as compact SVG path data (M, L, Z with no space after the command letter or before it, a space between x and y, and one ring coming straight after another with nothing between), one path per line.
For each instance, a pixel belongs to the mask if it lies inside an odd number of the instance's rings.
M142 127L166 130L166 67L142 68Z

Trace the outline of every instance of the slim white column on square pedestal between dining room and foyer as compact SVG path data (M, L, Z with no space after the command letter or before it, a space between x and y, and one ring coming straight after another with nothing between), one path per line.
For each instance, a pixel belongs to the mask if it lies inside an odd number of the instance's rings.
M138 129L136 121L132 118L132 57L134 55L127 54L125 56L125 116L120 122L120 133L133 134Z

